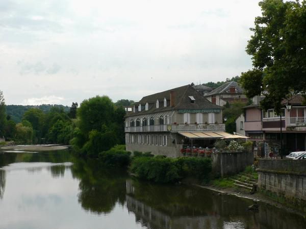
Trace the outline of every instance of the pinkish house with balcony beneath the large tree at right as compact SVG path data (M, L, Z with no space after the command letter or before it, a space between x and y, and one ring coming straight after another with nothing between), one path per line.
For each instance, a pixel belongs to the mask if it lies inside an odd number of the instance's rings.
M286 105L290 103L290 110ZM262 110L259 104L244 107L244 131L250 140L266 142L269 151L279 154L281 128L284 153L306 149L306 106L303 96L294 95L290 101L283 101L281 117L274 109Z

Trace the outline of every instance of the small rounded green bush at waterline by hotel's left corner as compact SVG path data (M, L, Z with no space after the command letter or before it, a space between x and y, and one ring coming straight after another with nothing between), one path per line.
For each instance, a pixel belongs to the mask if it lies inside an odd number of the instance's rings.
M118 145L99 153L99 159L107 166L127 167L131 163L130 155L131 152L125 151L125 146Z

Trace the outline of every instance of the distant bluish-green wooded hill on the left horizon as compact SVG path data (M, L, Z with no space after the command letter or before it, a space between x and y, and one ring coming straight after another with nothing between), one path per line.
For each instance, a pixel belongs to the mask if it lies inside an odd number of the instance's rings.
M7 115L11 116L11 119L15 122L15 123L20 123L22 116L24 114L25 111L27 111L30 108L38 108L41 109L43 112L47 113L52 107L58 107L58 108L63 108L65 112L69 112L70 111L70 107L69 106L64 106L64 105L51 105L51 104L42 104L42 105L6 105L6 113Z

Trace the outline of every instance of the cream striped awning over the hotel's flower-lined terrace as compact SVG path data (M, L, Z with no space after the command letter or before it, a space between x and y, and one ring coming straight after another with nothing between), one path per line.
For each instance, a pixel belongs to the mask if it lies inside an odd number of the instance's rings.
M179 134L192 139L248 138L247 136L230 134L223 131L214 131L214 132L180 131Z

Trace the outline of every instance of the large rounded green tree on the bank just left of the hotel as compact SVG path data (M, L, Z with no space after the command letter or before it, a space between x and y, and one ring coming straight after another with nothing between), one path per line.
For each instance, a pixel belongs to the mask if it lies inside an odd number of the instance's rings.
M120 109L120 110L118 110ZM122 107L116 108L107 96L84 100L77 110L78 123L71 144L89 156L97 156L118 144L123 125Z

